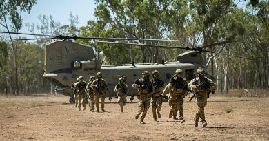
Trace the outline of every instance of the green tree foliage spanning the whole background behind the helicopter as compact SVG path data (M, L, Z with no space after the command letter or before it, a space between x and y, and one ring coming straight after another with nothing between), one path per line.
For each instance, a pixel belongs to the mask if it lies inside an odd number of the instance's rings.
M22 26L19 19L21 12L30 12L32 1L0 1L0 21L12 21L12 30ZM39 15L40 24L30 25L30 32L39 34L66 34L96 37L121 37L141 39L177 39L177 42L161 41L119 41L126 43L145 43L156 45L177 45L195 47L219 41L238 40L208 48L223 54L248 56L247 61L231 56L215 56L215 76L226 81L226 89L267 88L269 78L269 36L268 36L268 1L250 1L246 8L237 8L233 1L226 0L95 0L95 21L78 27L78 16L70 13L69 24L61 25L52 16ZM6 27L5 27L6 26ZM37 30L37 31L35 31ZM113 41L113 40L111 40ZM14 63L17 62L19 85L23 93L48 88L48 83L41 78L43 74L43 47L48 40L36 43L19 41L0 42L0 76L8 76L10 86L14 85ZM77 43L94 48L97 58L105 65L130 63L130 45L108 45L88 39L77 39ZM15 51L15 52L14 52ZM160 49L158 47L132 46L135 63L176 61L176 56L185 50ZM17 55L17 61L15 57ZM203 54L204 62L211 54ZM8 65L6 65L8 63ZM222 76L221 76L222 74ZM1 86L0 86L1 87ZM220 87L220 86L219 86ZM2 88L2 87L1 87ZM232 109L227 109L227 113Z

